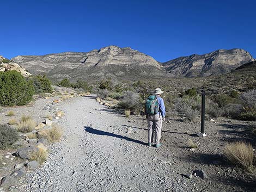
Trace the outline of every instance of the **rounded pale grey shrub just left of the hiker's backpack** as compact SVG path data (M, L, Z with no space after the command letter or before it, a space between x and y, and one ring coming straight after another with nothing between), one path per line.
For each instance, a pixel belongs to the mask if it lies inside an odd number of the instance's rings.
M132 113L139 112L143 108L142 100L139 94L133 91L126 91L121 97L118 107L129 109Z

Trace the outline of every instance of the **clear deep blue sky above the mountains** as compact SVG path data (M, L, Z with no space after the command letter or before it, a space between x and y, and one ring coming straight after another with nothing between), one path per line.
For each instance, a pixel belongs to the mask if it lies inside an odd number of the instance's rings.
M131 47L167 61L216 49L256 57L255 1L1 1L0 55Z

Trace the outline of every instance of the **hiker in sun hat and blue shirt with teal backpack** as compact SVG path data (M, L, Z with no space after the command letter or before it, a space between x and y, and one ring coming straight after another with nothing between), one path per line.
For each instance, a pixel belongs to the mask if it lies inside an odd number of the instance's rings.
M161 146L161 129L162 122L165 121L166 108L164 107L163 99L160 97L163 91L160 88L155 89L145 103L145 114L148 119L148 146L153 143L153 133L156 132L156 148Z

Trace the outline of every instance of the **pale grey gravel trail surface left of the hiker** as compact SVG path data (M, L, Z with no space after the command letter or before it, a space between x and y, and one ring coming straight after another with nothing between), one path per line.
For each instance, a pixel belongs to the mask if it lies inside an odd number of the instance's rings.
M93 97L60 108L66 114L64 139L52 146L44 167L27 176L26 190L168 191L173 185L170 165L163 165L157 149L143 142L143 128L134 131L129 119Z

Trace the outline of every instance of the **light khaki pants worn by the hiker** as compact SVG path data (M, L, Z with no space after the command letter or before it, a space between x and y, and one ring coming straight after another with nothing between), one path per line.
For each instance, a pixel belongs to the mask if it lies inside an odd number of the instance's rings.
M148 116L149 143L153 142L154 129L156 131L156 143L160 143L163 118L159 114Z

